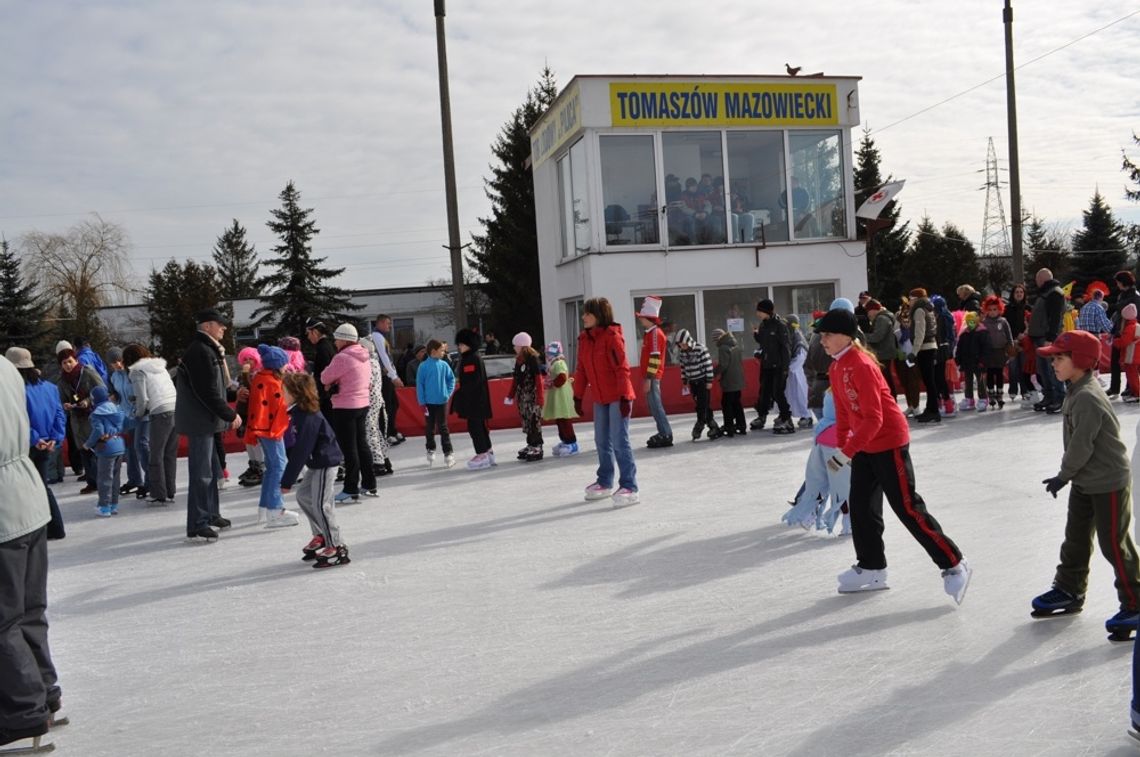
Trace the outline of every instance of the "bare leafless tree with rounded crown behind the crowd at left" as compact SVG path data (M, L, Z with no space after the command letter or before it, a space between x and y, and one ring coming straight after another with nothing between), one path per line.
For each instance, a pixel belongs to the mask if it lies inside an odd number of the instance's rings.
M25 270L60 323L60 336L87 336L103 347L98 309L130 293L130 241L123 227L97 213L64 233L21 238Z

